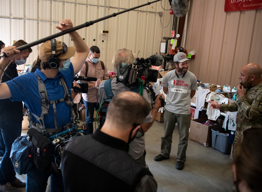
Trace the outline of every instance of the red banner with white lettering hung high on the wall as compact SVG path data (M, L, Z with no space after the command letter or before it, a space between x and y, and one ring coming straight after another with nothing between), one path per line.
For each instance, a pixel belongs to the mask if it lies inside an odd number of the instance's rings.
M261 0L225 0L225 12L262 9Z

